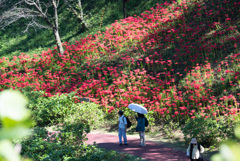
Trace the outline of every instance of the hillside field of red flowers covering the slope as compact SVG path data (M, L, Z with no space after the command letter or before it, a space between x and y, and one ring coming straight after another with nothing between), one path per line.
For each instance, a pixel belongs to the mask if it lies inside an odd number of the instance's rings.
M0 59L0 89L76 92L106 112L144 104L159 118L236 116L240 2L157 4L54 50ZM76 100L78 101L78 100Z

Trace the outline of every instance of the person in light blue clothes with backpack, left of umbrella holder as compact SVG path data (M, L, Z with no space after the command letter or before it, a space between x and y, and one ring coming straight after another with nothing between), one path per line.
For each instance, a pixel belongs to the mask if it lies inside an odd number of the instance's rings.
M128 145L127 143L127 119L123 115L123 111L118 111L119 121L118 121L118 137L119 137L119 146L122 146L122 137L124 140L124 145Z

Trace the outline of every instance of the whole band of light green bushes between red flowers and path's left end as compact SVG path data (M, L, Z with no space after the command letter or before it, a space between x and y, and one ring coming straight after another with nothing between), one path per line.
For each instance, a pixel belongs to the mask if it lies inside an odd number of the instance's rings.
M48 126L67 122L85 122L97 128L103 119L103 112L95 103L75 103L79 99L75 93L44 97L43 91L25 91L30 98L28 108L38 126Z

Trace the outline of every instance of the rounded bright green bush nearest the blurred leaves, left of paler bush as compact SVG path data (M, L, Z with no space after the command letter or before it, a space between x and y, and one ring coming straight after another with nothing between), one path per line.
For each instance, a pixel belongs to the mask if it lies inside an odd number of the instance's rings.
M37 125L45 126L50 123L63 123L65 117L76 112L76 104L73 100L74 93L55 95L53 97L44 97L40 94L39 92L31 93L31 97L35 97L35 99L28 105Z

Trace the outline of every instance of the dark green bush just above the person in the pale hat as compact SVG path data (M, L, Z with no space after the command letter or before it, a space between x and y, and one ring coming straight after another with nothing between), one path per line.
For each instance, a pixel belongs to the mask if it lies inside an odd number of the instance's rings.
M192 138L197 138L199 143L204 147L216 145L219 140L233 136L232 123L227 123L226 120L212 118L202 118L197 116L195 119L190 119L186 125L182 127L185 143L188 144Z

